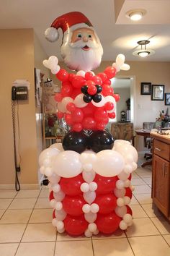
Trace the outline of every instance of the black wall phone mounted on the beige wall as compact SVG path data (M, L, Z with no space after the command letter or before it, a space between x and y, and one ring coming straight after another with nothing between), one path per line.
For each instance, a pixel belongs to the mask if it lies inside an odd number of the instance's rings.
M12 86L12 101L24 101L28 98L27 86Z

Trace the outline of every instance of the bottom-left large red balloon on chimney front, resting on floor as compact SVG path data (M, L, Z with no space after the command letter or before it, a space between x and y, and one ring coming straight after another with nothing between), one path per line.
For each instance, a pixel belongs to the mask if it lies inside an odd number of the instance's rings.
M79 217L66 216L63 220L64 227L68 234L72 236L79 236L84 234L89 223L85 220L84 215Z

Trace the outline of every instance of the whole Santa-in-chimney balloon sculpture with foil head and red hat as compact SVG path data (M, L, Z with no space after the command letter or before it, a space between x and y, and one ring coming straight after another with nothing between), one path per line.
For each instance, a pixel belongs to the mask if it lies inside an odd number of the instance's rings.
M125 56L119 54L112 67L94 74L99 67L103 49L91 22L81 12L58 17L45 37L58 40L63 30L61 54L68 74L58 65L58 58L43 61L61 81L58 119L64 118L70 132L63 145L55 143L42 151L40 171L48 177L53 226L58 232L92 236L111 234L132 225L131 173L137 168L138 154L125 140L115 140L104 128L115 118L115 94L110 79L120 69L128 70Z

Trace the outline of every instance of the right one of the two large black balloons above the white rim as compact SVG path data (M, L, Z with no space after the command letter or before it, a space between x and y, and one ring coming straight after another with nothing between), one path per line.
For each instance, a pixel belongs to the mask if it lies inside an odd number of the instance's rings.
M113 148L114 139L112 135L107 131L94 131L89 136L88 145L94 152L102 150L111 150Z

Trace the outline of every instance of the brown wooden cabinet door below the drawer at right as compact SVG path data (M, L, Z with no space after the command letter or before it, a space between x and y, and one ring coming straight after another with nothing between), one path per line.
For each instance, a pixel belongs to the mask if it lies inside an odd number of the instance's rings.
M153 202L166 217L169 216L169 162L153 155Z

